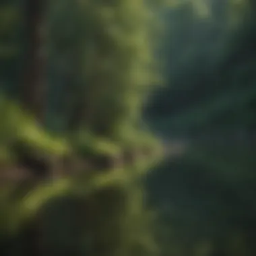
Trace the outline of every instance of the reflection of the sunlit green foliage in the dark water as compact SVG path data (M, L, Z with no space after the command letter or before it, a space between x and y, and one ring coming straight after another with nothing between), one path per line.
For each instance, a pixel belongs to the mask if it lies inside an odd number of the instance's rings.
M11 188L1 200L1 230L5 235L22 234L22 224L40 214L42 243L50 255L77 249L88 253L90 248L93 255L154 255L154 216L145 210L143 191L128 173L42 183L22 199L13 197Z

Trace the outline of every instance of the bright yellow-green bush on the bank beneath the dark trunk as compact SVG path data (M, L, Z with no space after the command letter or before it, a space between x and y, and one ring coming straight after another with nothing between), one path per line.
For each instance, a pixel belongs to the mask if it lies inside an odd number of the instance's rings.
M20 142L41 153L68 154L67 142L46 133L30 115L20 108L19 104L2 97L0 111L0 141L3 150L5 149L3 152L8 152L16 142Z

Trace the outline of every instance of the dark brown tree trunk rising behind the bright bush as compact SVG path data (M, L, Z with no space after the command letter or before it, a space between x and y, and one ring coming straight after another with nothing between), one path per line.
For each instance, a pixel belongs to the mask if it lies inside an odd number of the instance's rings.
M46 0L26 1L26 70L22 102L38 121L44 119L46 56L44 53L44 11Z

